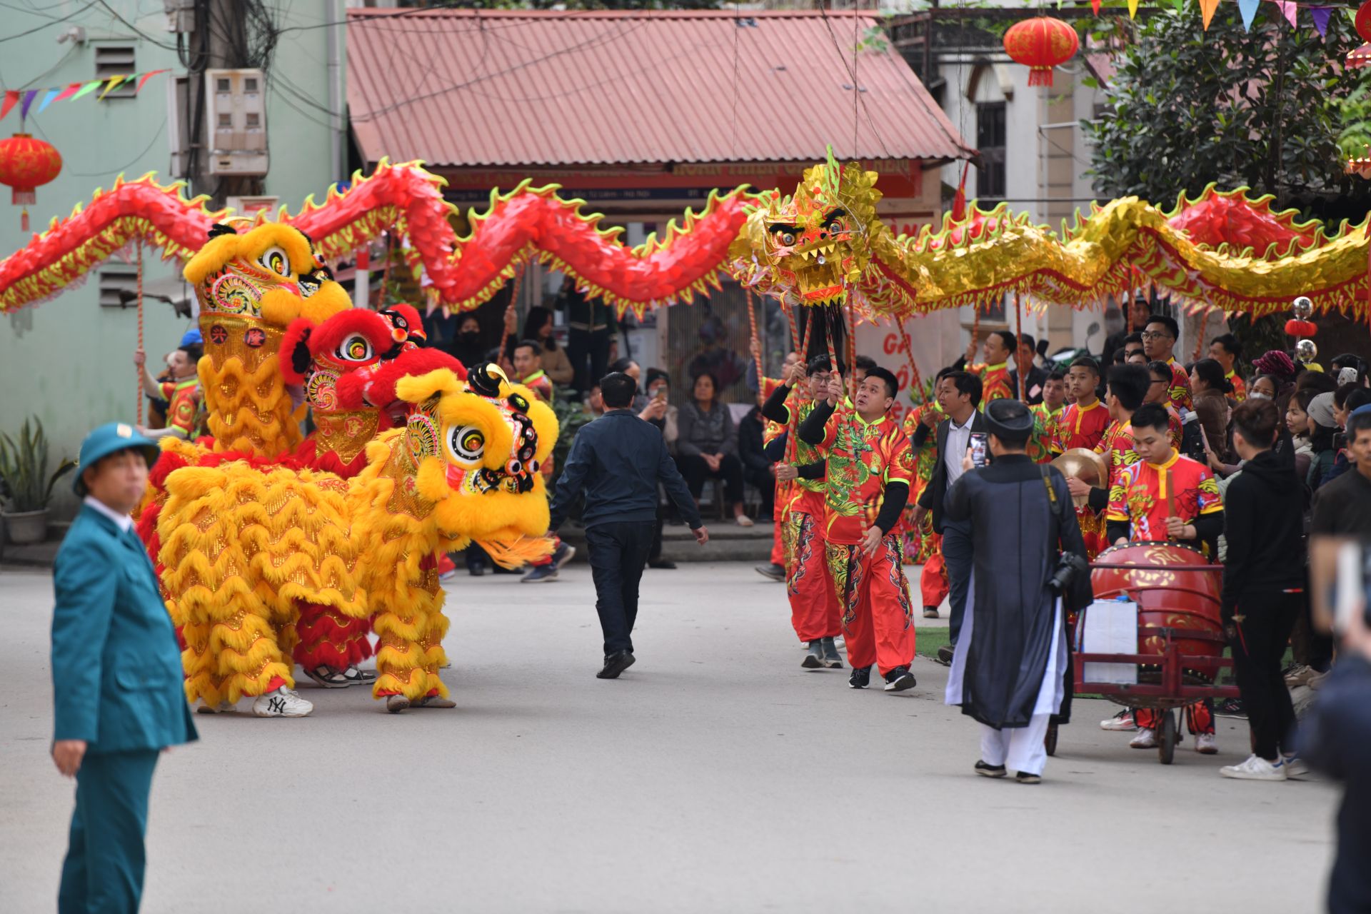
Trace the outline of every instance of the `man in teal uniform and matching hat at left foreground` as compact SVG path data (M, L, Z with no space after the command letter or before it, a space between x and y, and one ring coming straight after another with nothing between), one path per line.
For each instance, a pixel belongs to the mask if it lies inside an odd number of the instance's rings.
M77 778L59 914L138 910L152 769L196 739L175 630L129 517L156 459L130 425L86 436L74 484L85 504L53 570L52 761Z

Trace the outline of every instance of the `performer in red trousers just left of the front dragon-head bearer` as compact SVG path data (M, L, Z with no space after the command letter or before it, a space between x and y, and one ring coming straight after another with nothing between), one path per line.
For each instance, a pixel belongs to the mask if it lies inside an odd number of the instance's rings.
M827 393L832 380L842 384L843 366L832 370L827 355L816 355L809 360L808 371L799 363L791 366L786 384L777 386L766 403L762 415L777 425L798 428L813 412L816 397ZM808 378L808 396L797 393ZM825 563L824 539L824 492L825 481L818 478L798 478L799 467L820 465L823 455L803 437L797 436L794 463L786 466L786 475L795 474L794 489L786 506L786 539L788 543L786 566L786 596L790 597L790 621L801 641L809 644L802 666L809 670L842 669L842 658L834 639L842 632L838 615L838 596ZM777 469L780 478L780 469Z

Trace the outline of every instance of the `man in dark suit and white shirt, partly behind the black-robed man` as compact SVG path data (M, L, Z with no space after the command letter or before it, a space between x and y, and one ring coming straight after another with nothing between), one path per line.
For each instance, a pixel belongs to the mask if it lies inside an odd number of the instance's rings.
M951 662L957 648L957 634L967 611L967 588L971 585L971 523L943 519L943 499L951 484L961 478L961 458L971 447L971 436L986 430L980 410L980 378L969 371L953 371L938 382L938 403L947 415L938 425L938 463L932 477L919 496L916 519L923 522L932 512L934 532L942 533L943 560L947 565L949 603L949 644L938 650L938 659ZM914 441L917 448L921 441Z

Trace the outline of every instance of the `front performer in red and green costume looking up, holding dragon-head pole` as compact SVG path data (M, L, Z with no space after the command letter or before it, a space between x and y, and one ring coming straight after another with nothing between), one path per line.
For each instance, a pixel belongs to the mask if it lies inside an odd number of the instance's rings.
M834 589L843 607L843 637L853 666L849 685L864 689L877 665L887 692L914 687L914 622L901 560L901 512L914 480L909 436L890 418L899 381L869 369L853 403L840 378L799 426L799 440L824 455L824 540Z

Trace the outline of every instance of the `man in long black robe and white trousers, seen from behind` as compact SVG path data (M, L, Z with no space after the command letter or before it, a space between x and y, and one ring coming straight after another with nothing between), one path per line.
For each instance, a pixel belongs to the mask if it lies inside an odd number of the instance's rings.
M1086 545L1065 477L1024 452L1028 407L994 400L986 425L994 462L976 469L965 454L947 491L947 519L971 529L973 571L945 700L982 725L976 774L1013 769L1020 784L1038 784L1065 696L1065 613L1090 603Z

